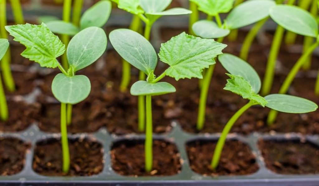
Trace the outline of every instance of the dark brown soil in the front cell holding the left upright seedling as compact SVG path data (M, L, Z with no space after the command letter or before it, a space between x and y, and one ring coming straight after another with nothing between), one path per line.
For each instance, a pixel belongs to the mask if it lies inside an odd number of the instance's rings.
M37 143L33 170L45 176L92 176L103 169L102 145L88 139L69 140L70 171L62 172L61 141L49 139Z

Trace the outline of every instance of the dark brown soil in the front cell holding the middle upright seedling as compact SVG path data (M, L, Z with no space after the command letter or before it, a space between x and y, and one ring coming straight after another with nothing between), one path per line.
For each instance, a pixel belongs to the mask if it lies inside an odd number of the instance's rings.
M171 176L180 172L182 167L180 155L174 144L167 141L153 141L151 172L145 172L144 152L144 141L116 142L111 150L112 169L124 176Z

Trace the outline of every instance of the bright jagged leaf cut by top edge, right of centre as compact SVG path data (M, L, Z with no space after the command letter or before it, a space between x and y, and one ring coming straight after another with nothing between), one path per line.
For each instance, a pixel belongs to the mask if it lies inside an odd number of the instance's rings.
M197 4L198 10L216 16L219 13L227 13L233 8L234 0L190 0Z

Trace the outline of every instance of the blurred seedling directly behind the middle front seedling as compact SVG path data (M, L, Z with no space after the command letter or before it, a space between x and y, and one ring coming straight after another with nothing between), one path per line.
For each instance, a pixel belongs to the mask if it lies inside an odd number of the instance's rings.
M152 25L162 16L173 16L173 15L185 15L192 13L191 11L184 8L172 8L165 10L172 0L112 0L117 3L118 8L130 12L133 15L137 15L144 23L144 37L149 40L152 30ZM130 71L129 65L123 65L123 72ZM129 76L123 75L124 78ZM145 80L145 73L140 71L139 79ZM130 79L122 79L122 90L125 90L128 86ZM144 96L138 97L138 130L144 131L145 128L145 98Z

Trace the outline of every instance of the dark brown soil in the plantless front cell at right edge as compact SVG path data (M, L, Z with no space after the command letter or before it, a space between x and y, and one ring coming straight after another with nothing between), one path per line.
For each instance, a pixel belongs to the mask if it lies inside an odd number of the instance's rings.
M309 142L259 141L266 167L279 174L318 174L319 148Z

